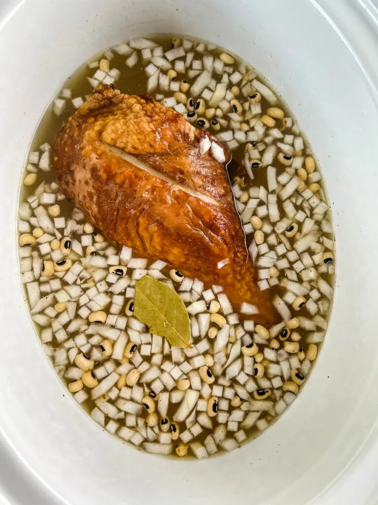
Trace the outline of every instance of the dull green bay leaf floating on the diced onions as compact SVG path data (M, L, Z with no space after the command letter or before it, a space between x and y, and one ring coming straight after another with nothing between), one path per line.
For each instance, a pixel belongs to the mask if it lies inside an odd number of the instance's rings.
M142 277L135 284L134 316L165 337L173 347L191 347L191 327L184 302L163 282Z

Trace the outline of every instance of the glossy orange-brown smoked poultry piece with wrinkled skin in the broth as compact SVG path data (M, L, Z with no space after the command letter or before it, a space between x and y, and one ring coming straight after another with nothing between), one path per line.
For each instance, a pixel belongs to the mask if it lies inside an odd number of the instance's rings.
M148 95L99 85L54 141L57 181L109 238L164 260L208 287L220 284L234 310L246 301L258 306L257 320L274 322L269 294L257 286L248 258L226 164L210 151L200 154L205 136L215 140ZM106 144L174 182L123 160ZM222 147L227 163L231 156ZM213 201L188 194L175 182ZM228 264L218 269L225 259Z

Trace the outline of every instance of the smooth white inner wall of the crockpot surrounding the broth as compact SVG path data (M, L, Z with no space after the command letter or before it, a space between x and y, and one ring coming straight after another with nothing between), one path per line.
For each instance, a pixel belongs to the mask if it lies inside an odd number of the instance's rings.
M75 505L110 500L114 505L177 500L303 505L314 499L362 447L374 427L371 406L378 399L378 116L361 68L319 9L304 0L28 0L11 14L0 24L0 428L7 443L45 485L50 502L52 492ZM267 433L211 461L155 458L99 430L68 397L44 357L18 273L21 167L44 108L91 55L154 32L220 43L268 77L311 142L333 206L337 289L319 363L298 400ZM37 488L33 492L30 503L41 502ZM317 502L332 503L327 496ZM349 503L351 496L340 502Z

